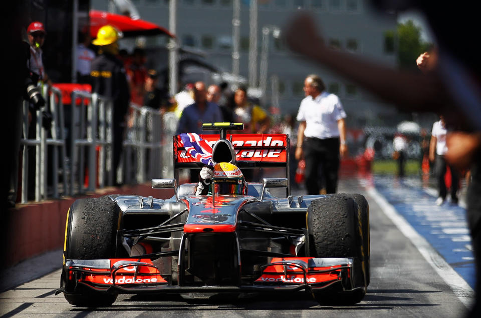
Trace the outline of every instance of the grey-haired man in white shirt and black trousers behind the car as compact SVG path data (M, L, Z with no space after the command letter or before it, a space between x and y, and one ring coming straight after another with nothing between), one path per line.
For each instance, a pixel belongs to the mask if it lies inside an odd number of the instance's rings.
M324 91L323 81L309 75L304 81L304 98L299 107L300 122L295 157L306 160L308 194L319 194L319 167L326 182L326 193L336 193L339 157L347 155L346 113L339 98Z

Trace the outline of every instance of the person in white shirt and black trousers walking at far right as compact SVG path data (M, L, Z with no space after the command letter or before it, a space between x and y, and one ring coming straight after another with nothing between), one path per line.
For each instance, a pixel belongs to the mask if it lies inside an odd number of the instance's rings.
M449 167L451 173L451 203L457 204L457 188L459 183L459 176L454 167L446 163L444 155L447 153L446 146L446 127L443 116L439 116L440 120L432 125L431 142L429 144L429 160L434 162L434 171L437 180L439 197L436 200L436 205L441 205L446 200L446 183L444 176L446 174L446 167Z

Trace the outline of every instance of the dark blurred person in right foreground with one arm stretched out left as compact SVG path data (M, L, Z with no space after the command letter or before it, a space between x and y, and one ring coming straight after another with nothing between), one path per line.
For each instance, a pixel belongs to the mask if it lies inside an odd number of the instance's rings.
M424 2L373 0L379 9L420 10L425 14L439 44L434 72L426 75L399 72L349 53L324 46L313 19L299 14L288 25L285 36L295 52L329 67L403 111L437 112L448 126L462 130L446 135L447 162L458 168L471 167L467 190L467 220L476 267L475 301L470 317L481 316L481 67L472 33L477 11L462 6ZM451 23L445 23L449 16ZM455 35L455 36L452 36ZM477 44L477 43L476 43ZM454 105L454 107L453 107ZM449 123L447 122L449 120Z

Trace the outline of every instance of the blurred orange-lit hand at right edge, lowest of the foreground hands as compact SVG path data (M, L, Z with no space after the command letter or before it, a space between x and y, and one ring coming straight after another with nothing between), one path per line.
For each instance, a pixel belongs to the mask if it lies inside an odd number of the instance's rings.
M446 135L446 161L458 169L467 169L481 147L481 133L452 132Z

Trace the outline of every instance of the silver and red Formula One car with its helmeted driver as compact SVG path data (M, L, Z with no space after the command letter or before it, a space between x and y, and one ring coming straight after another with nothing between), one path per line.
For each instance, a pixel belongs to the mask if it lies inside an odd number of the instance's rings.
M197 183L154 179L153 188L175 195L76 200L57 293L88 307L111 305L119 293L304 292L330 305L361 301L370 280L366 199L291 196L288 136L227 134L242 128L203 124L220 134L174 136L175 172L204 160L214 167L207 194L195 194ZM284 168L287 178L245 181L242 171L261 167ZM287 197L270 188L286 188Z

